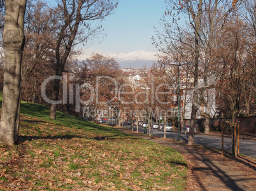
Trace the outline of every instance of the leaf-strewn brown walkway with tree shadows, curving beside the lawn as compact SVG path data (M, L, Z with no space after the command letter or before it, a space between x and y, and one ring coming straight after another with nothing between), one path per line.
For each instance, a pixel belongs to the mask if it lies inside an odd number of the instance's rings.
M248 157L222 157L214 149L187 146L170 139L145 136L119 126L115 128L131 135L176 149L188 164L186 190L255 190L256 160Z

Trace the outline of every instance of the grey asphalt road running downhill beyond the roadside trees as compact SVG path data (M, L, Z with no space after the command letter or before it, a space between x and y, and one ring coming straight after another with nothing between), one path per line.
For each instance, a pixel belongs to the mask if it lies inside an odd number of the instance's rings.
M125 126L126 128L126 126ZM128 125L128 129L131 129L131 125ZM133 127L136 131L136 126ZM143 133L144 128L139 127L139 133ZM148 133L148 128L147 128ZM157 131L157 129L151 129L151 134L159 137L164 137L164 132ZM178 140L177 132L166 132L166 138L173 138ZM205 145L209 147L222 148L222 138L220 136L209 135L195 135L194 142L196 144ZM180 140L187 142L188 135L180 134ZM232 150L231 138L224 137L224 150ZM248 155L256 158L256 141L255 140L239 140L240 154Z

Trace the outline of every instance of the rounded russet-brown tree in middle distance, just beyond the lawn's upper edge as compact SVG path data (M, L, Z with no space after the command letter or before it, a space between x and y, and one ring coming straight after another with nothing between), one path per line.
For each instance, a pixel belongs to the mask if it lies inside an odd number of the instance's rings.
M120 76L120 72L119 65L114 58L98 53L92 54L80 65L80 71L77 72L75 81L81 86L86 83L90 84L90 87L81 89L80 95L83 101L89 101L86 104L87 112L95 114L89 116L91 119L97 116L99 109L106 105L115 105L117 100L114 98L117 96L117 89L115 89L113 80L118 83L117 78Z

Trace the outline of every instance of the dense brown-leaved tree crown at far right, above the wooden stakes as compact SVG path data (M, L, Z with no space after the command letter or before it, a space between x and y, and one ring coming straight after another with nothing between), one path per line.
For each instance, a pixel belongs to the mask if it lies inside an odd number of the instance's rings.
M218 107L232 122L239 115L250 114L255 98L255 60L246 54L250 33L245 29L243 20L231 20L218 39L222 47L215 51L217 64L226 65L218 74Z

